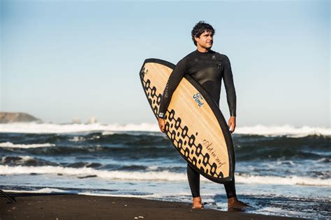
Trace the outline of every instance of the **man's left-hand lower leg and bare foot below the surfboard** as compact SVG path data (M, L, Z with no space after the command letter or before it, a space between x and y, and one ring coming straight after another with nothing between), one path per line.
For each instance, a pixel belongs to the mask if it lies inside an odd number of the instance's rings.
M202 208L200 198L200 173L195 171L189 164L187 164L187 178L189 179L189 185L193 197L193 208Z

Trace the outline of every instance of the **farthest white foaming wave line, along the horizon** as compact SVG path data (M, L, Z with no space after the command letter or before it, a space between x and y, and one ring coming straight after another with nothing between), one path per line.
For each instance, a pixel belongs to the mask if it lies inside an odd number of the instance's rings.
M61 134L75 132L103 132L103 135L114 132L159 132L157 123L140 124L53 124L53 123L8 123L0 124L0 132L7 133L35 133L35 134ZM292 125L254 125L237 127L234 134L256 134L263 136L293 136L302 137L309 135L331 136L330 127L294 127ZM73 141L76 141L75 139Z

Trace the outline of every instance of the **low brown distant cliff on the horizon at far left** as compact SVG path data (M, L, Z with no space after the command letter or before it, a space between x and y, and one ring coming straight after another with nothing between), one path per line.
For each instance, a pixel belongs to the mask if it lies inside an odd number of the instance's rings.
M23 112L3 112L0 111L0 123L42 123L39 118Z

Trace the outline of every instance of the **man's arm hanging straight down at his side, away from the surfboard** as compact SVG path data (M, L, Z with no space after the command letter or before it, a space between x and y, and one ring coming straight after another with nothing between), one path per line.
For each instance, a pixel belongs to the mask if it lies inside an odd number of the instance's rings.
M237 108L237 97L235 95L235 84L233 83L233 74L231 64L228 56L224 55L224 86L226 87L226 100L230 111L230 119L228 120L228 127L231 128L230 132L235 131L235 116Z

